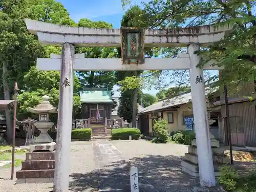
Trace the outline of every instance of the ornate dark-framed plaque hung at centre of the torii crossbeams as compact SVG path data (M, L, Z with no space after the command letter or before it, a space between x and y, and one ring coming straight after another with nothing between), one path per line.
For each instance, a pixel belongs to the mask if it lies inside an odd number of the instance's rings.
M121 28L122 64L144 64L144 29Z

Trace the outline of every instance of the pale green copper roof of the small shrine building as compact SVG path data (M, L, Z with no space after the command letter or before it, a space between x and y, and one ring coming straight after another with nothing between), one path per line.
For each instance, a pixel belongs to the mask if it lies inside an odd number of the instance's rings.
M80 101L83 103L113 102L111 92L107 89L87 88L80 92Z

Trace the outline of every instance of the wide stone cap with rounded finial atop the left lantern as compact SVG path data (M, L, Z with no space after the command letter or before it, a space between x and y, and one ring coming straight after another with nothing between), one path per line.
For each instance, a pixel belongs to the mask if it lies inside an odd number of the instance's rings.
M49 96L45 95L42 96L42 102L41 104L36 105L35 108L29 108L29 112L34 113L34 114L39 114L39 113L58 113L56 107L54 107L50 101L49 101Z

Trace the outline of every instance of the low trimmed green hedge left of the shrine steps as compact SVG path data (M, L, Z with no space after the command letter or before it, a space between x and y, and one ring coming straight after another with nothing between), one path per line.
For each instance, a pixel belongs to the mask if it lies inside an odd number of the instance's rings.
M57 132L48 131L52 139L56 139ZM91 139L92 130L90 128L75 129L71 132L71 139Z

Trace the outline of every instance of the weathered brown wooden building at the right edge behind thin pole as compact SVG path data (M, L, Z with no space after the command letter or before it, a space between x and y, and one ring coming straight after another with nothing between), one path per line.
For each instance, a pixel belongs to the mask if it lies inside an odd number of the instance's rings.
M239 84L238 88L239 90L229 92L228 94L231 144L241 147L256 147L255 85L254 83L243 82ZM220 123L220 141L228 145L223 89L221 92L221 101L217 101L214 104L221 107L222 122Z

